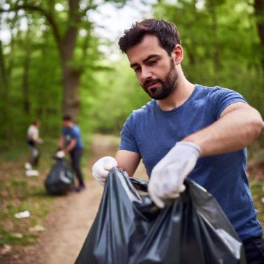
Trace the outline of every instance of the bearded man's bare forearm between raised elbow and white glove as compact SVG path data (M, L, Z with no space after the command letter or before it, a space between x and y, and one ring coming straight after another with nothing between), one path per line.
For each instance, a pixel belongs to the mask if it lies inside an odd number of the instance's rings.
M238 108L182 141L198 145L201 156L211 156L247 147L258 138L263 129L264 123L257 110L251 107Z

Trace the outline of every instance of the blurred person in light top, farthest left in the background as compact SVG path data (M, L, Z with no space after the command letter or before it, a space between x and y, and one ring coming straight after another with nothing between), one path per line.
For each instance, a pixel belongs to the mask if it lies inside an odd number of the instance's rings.
M24 167L26 169L27 176L38 176L37 170L32 170L33 166L38 166L39 158L40 158L40 149L38 148L39 144L42 144L43 140L39 135L40 129L40 121L35 119L33 123L28 127L28 131L26 133L26 141L28 143L28 147L31 150L31 156L27 163L25 163Z

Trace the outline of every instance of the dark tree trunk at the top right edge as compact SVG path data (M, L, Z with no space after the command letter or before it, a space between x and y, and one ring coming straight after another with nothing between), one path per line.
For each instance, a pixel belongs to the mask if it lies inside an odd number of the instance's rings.
M261 54L261 67L264 72L264 0L255 0L254 3L256 14L256 25L258 28L258 35L261 40L262 51Z

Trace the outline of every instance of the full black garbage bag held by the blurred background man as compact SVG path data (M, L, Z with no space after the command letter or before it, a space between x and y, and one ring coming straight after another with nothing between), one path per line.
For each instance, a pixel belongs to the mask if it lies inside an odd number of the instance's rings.
M69 190L72 190L74 175L65 159L56 159L56 163L47 175L44 185L49 195L66 195Z

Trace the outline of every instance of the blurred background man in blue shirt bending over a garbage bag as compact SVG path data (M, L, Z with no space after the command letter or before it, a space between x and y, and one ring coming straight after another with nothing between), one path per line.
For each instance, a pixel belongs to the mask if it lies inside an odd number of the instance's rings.
M60 149L56 154L58 158L63 158L69 152L72 167L79 181L79 185L75 187L75 190L76 192L80 192L85 188L80 166L81 156L83 154L83 141L81 140L81 129L74 124L72 117L68 115L63 117L63 130L58 140L58 149Z

